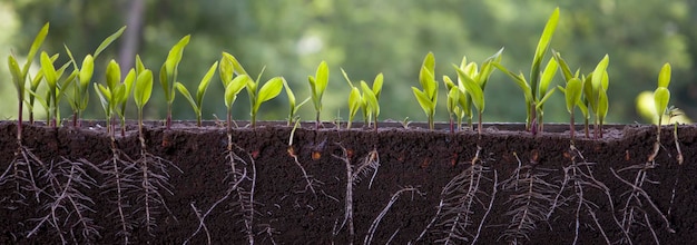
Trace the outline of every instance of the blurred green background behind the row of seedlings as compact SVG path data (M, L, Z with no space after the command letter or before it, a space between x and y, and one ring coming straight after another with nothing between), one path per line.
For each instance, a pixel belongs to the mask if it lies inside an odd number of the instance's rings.
M436 78L457 77L451 63L462 56L483 61L505 47L502 63L529 74L530 62L547 18L556 7L561 16L551 47L572 69L590 72L605 53L610 56L610 112L608 121L646 122L635 110L636 96L654 90L662 63L673 65L671 105L697 115L697 1L694 0L0 0L0 117L16 118L16 90L9 79L7 56L27 53L31 40L49 21L43 49L61 53L67 45L78 61L99 42L128 26L127 32L96 61L94 82L105 82L104 69L116 59L130 68L136 53L157 71L169 48L192 35L179 65L179 79L195 89L220 52L236 56L256 76L266 66L263 80L283 76L298 101L310 95L307 76L322 60L330 65L330 87L323 119L347 118L348 85L372 82L383 72L381 119L425 120L411 86L418 86L423 57L433 51ZM549 56L548 58L549 59ZM22 62L22 61L20 61ZM547 62L547 61L544 61ZM558 74L556 84L562 84ZM104 114L94 90L85 118ZM484 121L524 121L522 92L502 72L495 71L487 90ZM285 92L262 106L259 119L285 119ZM71 111L63 100L61 115ZM446 120L445 92L441 84L436 120ZM131 102L132 104L132 102ZM161 119L166 102L156 81L146 106L149 119ZM135 117L135 106L129 107ZM546 122L566 121L563 95L556 92L546 106ZM39 108L37 111L42 111ZM235 104L235 118L248 119L246 92ZM224 118L223 86L216 77L204 101L204 118ZM312 105L301 109L303 120L314 119ZM173 117L195 119L187 101L177 95ZM578 117L577 117L578 118ZM356 117L356 120L361 120Z

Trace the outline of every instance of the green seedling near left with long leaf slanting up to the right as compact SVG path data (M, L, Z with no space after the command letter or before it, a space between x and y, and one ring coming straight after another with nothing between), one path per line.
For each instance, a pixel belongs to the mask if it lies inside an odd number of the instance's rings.
M70 102L70 107L72 108L72 126L77 127L79 125L79 119L82 116L82 111L87 109L87 102L89 101L89 82L92 79L92 74L95 70L95 59L101 53L111 42L114 42L117 38L124 33L126 27L121 27L118 31L107 37L95 50L95 55L87 55L82 60L82 66L78 67L77 60L73 58L72 52L68 48L68 46L63 45L68 57L70 58L70 63L72 63L72 69L78 71L78 81L73 82L73 91L72 98L68 98ZM125 104L124 104L125 105Z

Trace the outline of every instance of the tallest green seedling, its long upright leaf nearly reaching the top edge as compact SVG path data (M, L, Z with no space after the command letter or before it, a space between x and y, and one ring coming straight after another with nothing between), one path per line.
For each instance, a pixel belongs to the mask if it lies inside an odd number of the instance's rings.
M554 74L557 72L557 61L550 59L544 70L542 72L540 72L540 70L542 66L542 59L544 59L544 55L547 53L549 43L552 40L552 36L554 35L558 22L559 8L554 9L552 14L547 20L547 24L544 26L544 30L542 31L542 36L540 37L540 40L538 42L538 47L534 51L534 57L532 58L530 80L526 80L526 77L522 75L522 72L513 74L500 63L494 63L497 68L499 68L504 74L508 74L512 78L512 80L523 90L523 94L526 96L526 109L528 112L526 128L533 134L537 134L538 130L543 129L543 104L554 91L553 87L549 89L549 85L551 82L551 79L554 77Z

